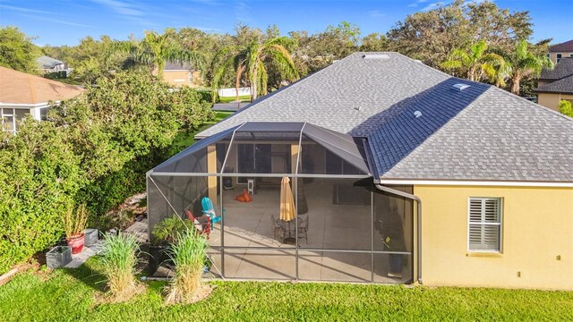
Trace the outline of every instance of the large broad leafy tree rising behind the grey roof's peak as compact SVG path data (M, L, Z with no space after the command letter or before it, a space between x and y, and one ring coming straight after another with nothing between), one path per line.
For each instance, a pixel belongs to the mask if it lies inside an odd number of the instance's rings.
M439 67L455 48L480 40L509 50L533 34L531 27L528 12L510 13L488 1L456 0L427 13L408 15L388 31L387 38L390 50Z

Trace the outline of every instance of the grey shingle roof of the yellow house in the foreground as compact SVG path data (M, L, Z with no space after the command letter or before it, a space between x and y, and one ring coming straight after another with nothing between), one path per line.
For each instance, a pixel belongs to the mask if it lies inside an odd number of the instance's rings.
M250 121L364 137L381 180L573 182L573 119L397 53L349 55L197 137Z

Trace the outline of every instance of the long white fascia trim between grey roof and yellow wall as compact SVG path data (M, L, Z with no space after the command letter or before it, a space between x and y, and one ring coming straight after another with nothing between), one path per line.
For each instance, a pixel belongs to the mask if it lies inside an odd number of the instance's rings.
M455 180L399 180L381 179L380 184L395 185L460 185L460 186L492 186L492 187L555 187L573 188L573 182L509 182L509 181L455 181Z

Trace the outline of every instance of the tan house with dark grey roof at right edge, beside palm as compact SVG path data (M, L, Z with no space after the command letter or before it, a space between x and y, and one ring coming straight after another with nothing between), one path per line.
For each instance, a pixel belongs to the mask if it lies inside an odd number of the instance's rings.
M573 57L561 58L552 71L543 70L534 91L537 103L555 111L561 100L573 103Z

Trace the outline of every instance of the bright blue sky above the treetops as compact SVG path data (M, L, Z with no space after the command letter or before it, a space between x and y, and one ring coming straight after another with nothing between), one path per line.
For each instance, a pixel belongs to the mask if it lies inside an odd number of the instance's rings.
M478 0L479 1L479 0ZM449 0L443 0L449 3ZM511 11L530 12L533 40L573 38L573 0L496 0ZM14 25L37 37L38 45L75 45L85 36L141 37L143 30L194 27L233 32L237 22L281 32L324 30L339 21L355 23L363 35L385 33L407 14L429 10L435 0L0 0L0 25Z

